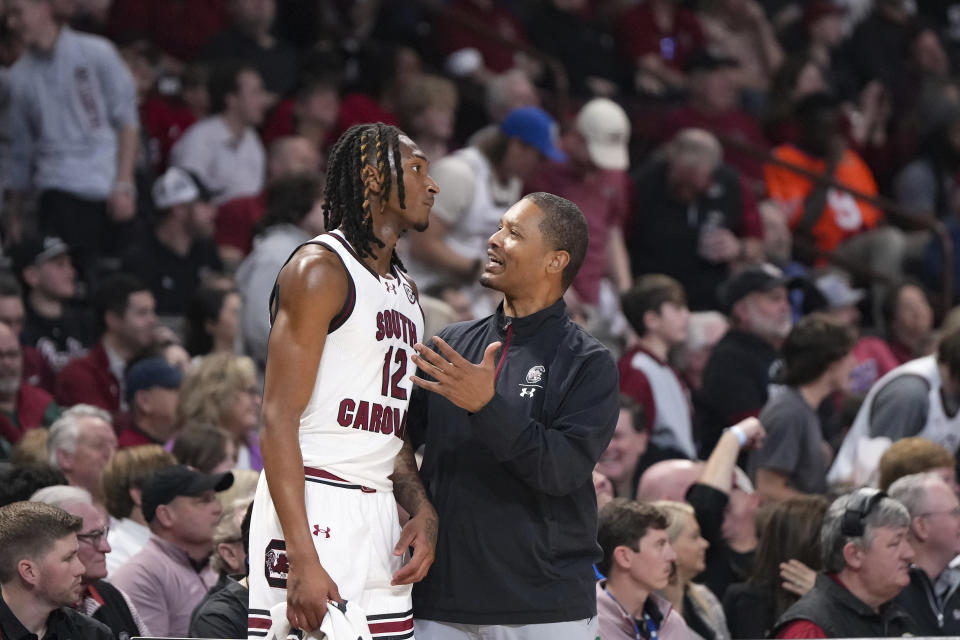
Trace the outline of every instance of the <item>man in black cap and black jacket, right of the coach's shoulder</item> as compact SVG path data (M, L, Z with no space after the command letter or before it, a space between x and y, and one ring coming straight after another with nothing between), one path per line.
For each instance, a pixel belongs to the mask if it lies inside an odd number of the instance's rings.
M792 326L786 283L779 269L765 264L744 269L720 289L731 327L707 362L696 399L694 435L702 458L724 428L759 415L767 402Z

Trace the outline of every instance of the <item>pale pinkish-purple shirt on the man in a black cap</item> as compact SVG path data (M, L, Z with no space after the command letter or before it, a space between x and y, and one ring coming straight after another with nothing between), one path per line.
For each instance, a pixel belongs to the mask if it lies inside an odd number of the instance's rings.
M209 563L197 571L186 551L151 535L110 581L130 597L151 633L186 638L190 615L217 582L217 574Z

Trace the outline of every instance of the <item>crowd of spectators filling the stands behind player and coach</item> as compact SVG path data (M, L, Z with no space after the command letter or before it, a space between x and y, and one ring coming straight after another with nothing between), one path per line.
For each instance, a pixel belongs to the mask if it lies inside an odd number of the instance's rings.
M958 633L958 65L952 0L0 0L0 546L83 565L7 604L245 634L271 290L381 121L428 332L522 196L587 218L604 640Z

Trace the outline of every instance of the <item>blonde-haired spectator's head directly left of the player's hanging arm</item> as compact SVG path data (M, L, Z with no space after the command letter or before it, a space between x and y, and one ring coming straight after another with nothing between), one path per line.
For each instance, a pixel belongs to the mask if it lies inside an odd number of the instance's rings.
M260 471L260 400L253 360L214 353L205 357L183 381L177 418L185 430L196 425L224 429L236 445L237 468Z

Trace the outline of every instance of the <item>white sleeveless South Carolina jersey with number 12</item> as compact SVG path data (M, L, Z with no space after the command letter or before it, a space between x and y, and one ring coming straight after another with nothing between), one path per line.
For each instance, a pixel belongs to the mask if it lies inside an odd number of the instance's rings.
M392 491L387 476L406 431L410 376L416 371L410 356L423 334L423 311L399 269L380 276L339 231L310 242L340 257L349 288L328 329L313 395L300 416L303 463Z

